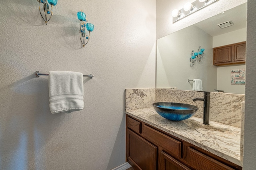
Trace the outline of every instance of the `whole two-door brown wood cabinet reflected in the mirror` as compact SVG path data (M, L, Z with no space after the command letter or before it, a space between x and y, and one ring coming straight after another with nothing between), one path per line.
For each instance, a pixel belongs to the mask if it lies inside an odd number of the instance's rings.
M213 49L213 65L245 63L246 41L215 47Z

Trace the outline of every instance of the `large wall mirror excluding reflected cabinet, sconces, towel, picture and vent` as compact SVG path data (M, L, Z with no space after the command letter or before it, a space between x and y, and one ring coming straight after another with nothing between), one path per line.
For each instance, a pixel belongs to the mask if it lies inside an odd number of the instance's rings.
M244 84L231 84L231 70L245 69L245 64L213 65L213 48L246 41L247 3L171 33L157 40L157 88L192 90L192 81L201 79L203 90L244 94ZM234 24L220 28L226 21ZM204 48L202 61L190 67L190 53Z

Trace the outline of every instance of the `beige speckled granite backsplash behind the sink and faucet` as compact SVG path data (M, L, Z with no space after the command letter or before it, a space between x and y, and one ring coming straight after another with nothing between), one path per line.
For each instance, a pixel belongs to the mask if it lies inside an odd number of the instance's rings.
M198 106L196 117L203 117L203 101L193 102L193 98L203 98L202 92L173 90L170 88L127 89L126 109L152 107L154 102L177 102ZM241 102L244 94L211 92L210 121L241 127Z

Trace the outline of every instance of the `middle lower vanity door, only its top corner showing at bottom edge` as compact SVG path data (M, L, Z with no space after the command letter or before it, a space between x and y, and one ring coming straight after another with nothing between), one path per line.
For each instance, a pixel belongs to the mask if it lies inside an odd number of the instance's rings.
M166 154L164 151L161 151L161 165L160 170L191 170L187 166L178 162L172 156Z

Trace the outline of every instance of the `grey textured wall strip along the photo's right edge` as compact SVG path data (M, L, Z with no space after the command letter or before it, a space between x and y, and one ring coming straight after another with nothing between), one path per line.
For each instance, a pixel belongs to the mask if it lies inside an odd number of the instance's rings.
M255 170L256 153L256 1L248 0L246 43L246 85L244 117L244 166L243 170Z

